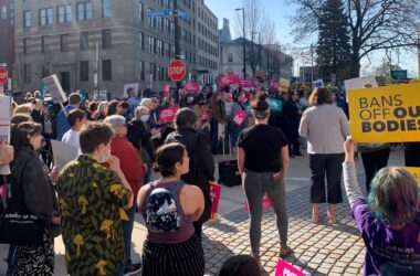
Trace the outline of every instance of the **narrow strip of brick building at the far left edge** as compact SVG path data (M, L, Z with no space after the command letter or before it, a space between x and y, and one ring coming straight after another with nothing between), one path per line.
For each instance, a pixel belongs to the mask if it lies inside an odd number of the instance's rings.
M11 76L14 65L14 0L0 0L0 66Z

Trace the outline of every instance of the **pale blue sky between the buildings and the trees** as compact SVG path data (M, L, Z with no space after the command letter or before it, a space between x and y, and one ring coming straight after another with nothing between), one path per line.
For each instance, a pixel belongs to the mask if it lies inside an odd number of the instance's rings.
M316 38L313 41L307 41L304 43L294 43L293 35L291 34L293 26L291 25L291 18L295 13L295 6L287 4L287 0L260 0L264 4L264 10L267 17L275 21L277 26L277 40L282 45L293 45L296 47L307 47L311 45L311 42L316 44ZM242 0L204 0L209 9L218 17L219 19L219 29L223 24L223 18L229 19L230 21L230 31L232 39L238 38L235 32L237 30L237 11L235 8L242 7ZM285 50L287 54L287 50ZM295 74L297 73L297 66L305 64L306 66L311 65L311 59L293 56L295 59ZM374 67L377 66L380 61L385 57L384 52L376 52L370 56L370 61L367 59L361 62L361 72L360 75L372 74ZM397 63L403 68L408 70L408 75L414 77L419 74L417 68L417 53L401 53L399 56L396 54L392 55L392 64Z

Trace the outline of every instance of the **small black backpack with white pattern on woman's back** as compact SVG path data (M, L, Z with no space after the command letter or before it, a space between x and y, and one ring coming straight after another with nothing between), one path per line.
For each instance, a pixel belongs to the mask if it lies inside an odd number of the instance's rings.
M146 225L153 233L171 233L180 230L183 215L179 198L169 189L155 188L146 205Z

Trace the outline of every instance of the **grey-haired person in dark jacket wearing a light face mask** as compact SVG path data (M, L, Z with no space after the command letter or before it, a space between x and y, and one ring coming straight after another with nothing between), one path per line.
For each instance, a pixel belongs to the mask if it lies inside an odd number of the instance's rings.
M159 137L160 132L153 135L149 125L149 109L146 106L137 106L135 117L127 125L127 139L133 144L147 164L148 170L143 183L148 183L151 177L151 164L155 159L153 138ZM160 137L159 137L160 138Z

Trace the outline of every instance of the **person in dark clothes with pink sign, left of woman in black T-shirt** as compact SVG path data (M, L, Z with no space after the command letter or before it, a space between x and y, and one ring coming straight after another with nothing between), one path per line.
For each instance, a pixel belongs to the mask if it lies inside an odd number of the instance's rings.
M237 140L239 134L246 128L246 119L242 121L242 124L238 125L233 119L239 110L245 112L245 104L246 97L244 91L239 91L233 95L233 105L232 105L232 112L229 116L228 120L228 130L229 130L229 137L231 139L231 145L233 152L237 152Z

